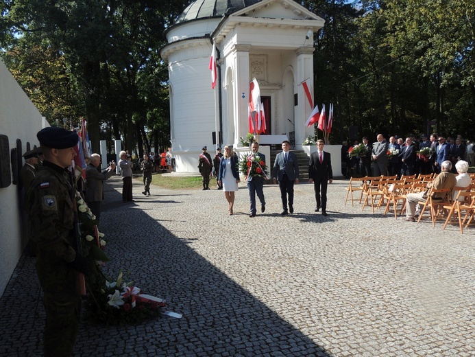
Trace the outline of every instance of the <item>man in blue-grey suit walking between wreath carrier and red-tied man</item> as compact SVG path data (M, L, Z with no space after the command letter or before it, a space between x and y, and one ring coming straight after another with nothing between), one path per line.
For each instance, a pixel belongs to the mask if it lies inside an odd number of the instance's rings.
M293 184L299 183L299 165L297 157L290 152L290 143L282 141L282 152L279 152L273 163L273 183L279 181L280 198L282 198L282 216L293 214ZM287 194L289 194L289 211L287 211Z

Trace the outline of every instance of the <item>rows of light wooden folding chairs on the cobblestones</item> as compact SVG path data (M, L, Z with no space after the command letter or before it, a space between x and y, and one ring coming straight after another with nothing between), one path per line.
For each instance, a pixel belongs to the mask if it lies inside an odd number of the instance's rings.
M463 227L468 227L472 223L475 211L475 174L472 176L472 185L468 187L454 187L453 189L428 189L427 184L437 174L428 175L411 175L402 176L400 179L397 176L365 176L361 178L352 177L347 187L345 197L345 205L350 200L352 207L358 201L363 203L361 210L365 207L371 207L374 214L375 209L384 207L384 216L389 212L393 212L394 218L398 218L406 209L406 197L408 194L417 192L426 192L424 200L419 201L420 222L424 213L430 214L433 225L437 219L442 218L446 214L446 222L443 224L443 229L447 224L454 222L456 219L459 222L461 233ZM360 192L359 198L357 192ZM356 194L354 196L354 194ZM435 197L439 199L435 199ZM453 197L455 196L455 199Z

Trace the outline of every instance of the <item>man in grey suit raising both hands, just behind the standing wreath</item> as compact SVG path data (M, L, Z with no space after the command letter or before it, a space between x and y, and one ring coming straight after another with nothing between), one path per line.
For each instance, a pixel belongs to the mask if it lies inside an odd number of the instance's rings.
M109 179L114 174L115 163L112 161L107 171L102 173L97 170L101 164L101 157L99 154L90 155L89 165L86 166L86 196L84 197L90 211L96 216L97 223L101 216L101 203L103 200L103 181Z

